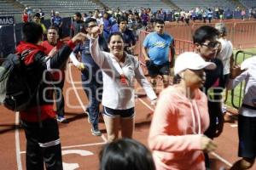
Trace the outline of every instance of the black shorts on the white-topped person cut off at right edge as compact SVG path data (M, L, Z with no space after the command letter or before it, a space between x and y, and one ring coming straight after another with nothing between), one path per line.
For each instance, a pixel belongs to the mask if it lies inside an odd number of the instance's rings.
M238 156L256 157L256 117L238 116Z

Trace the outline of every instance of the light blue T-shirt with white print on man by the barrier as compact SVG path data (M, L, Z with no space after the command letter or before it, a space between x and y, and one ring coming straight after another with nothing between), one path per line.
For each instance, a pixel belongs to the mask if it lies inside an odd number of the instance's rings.
M156 32L151 32L144 39L143 47L148 48L148 57L154 61L155 65L163 65L169 62L169 48L173 38L164 33L160 35Z

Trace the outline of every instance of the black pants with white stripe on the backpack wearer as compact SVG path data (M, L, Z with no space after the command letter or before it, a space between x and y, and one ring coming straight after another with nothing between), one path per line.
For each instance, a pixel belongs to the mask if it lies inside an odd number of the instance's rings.
M21 121L26 134L26 169L62 170L59 128L55 119L38 122Z

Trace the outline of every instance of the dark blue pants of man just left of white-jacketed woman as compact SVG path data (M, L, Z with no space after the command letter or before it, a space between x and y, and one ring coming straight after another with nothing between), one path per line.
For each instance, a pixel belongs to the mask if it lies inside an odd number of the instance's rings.
M87 111L89 112L90 122L94 128L98 128L99 105L102 102L102 77L81 75L84 92L89 99Z

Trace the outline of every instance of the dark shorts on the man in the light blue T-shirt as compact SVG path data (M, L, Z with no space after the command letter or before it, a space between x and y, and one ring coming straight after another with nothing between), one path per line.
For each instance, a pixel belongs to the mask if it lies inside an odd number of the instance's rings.
M163 65L155 65L153 60L146 61L148 68L148 74L150 77L156 77L157 75L170 75L170 63L166 62Z

